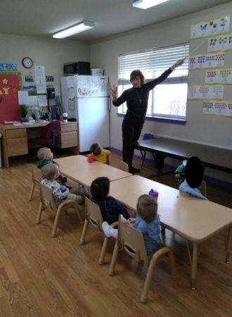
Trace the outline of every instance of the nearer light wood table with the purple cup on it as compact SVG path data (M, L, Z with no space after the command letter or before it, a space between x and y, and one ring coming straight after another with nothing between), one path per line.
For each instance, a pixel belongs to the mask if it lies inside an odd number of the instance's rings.
M232 210L141 176L115 180L110 184L110 196L136 211L138 197L148 193L151 188L159 192L158 213L162 225L193 242L191 282L192 289L195 289L199 246L223 229L227 229L226 262L229 261Z

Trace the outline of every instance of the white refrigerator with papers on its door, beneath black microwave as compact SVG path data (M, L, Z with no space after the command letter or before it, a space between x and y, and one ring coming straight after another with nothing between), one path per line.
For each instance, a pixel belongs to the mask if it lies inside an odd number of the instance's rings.
M63 110L79 124L79 151L91 144L110 147L108 76L61 77Z

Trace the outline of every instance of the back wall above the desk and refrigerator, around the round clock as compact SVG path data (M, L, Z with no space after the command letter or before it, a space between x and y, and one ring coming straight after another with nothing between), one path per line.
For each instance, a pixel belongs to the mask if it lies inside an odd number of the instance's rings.
M47 39L0 34L0 63L17 63L18 71L25 84L25 75L34 76L34 66L45 66L46 75L53 75L59 85L63 75L63 63L72 61L90 61L89 44L69 39ZM22 66L22 58L32 58L34 66L27 70ZM27 82L26 85L33 85Z

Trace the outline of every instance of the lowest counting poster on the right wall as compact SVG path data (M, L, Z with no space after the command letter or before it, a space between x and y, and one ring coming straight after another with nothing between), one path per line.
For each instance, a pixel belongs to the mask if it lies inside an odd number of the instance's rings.
M203 113L220 116L232 116L232 101L204 101Z

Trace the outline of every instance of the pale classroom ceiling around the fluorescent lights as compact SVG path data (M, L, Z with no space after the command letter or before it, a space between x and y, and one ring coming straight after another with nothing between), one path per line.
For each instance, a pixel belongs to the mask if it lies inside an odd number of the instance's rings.
M52 37L59 30L90 20L94 29L68 39L92 41L137 27L230 2L228 0L169 0L141 10L133 0L1 0L1 34Z

